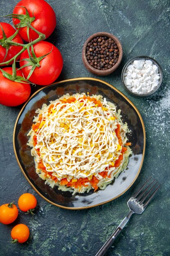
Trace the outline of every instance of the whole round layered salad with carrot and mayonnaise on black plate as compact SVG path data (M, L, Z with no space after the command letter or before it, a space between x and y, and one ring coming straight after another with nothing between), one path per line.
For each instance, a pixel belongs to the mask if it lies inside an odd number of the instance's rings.
M62 191L105 189L131 154L120 112L101 95L85 93L43 104L28 133L36 173Z

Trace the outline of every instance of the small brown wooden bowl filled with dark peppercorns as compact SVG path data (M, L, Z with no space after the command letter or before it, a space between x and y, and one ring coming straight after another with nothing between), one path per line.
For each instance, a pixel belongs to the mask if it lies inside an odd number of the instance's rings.
M82 61L93 74L107 76L121 63L123 50L116 36L107 32L98 32L84 43Z

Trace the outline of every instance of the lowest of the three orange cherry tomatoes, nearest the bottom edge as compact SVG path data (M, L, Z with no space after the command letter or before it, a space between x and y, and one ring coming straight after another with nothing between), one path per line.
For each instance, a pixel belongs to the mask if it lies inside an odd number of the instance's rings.
M11 230L12 243L24 243L29 238L29 228L24 224L18 224Z

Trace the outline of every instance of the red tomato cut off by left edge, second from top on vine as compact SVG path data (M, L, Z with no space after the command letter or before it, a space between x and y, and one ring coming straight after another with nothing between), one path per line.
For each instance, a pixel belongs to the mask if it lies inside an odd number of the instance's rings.
M10 36L12 36L16 30L8 23L5 22L0 22L0 25L2 26L2 28L4 29L5 35L7 36L7 38L9 38ZM0 27L0 40L2 40L3 38L3 34L2 34L2 28ZM22 38L20 37L19 34L17 34L13 39L13 42L15 43L21 43L23 44ZM3 45L3 46L2 46ZM4 56L6 54L6 49L7 47L9 47L8 49L8 53L6 58L4 59ZM16 54L18 54L18 52L20 52L22 50L22 46L15 46L15 45L7 45L7 44L2 44L1 41L1 45L0 45L0 63L5 62L5 61L9 61L11 58L13 58ZM20 58L20 56L17 57L17 60ZM13 61L11 61L11 63L13 63ZM11 64L10 63L10 64ZM9 64L9 65L10 65Z

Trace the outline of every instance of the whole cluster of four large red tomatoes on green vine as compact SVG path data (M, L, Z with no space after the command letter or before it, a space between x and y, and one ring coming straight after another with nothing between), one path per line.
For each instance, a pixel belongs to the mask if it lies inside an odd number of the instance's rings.
M55 45L44 41L56 26L45 0L21 0L4 17L13 19L16 30L0 22L0 67L12 64L0 68L0 104L18 106L29 98L30 84L49 85L58 78L63 59Z

